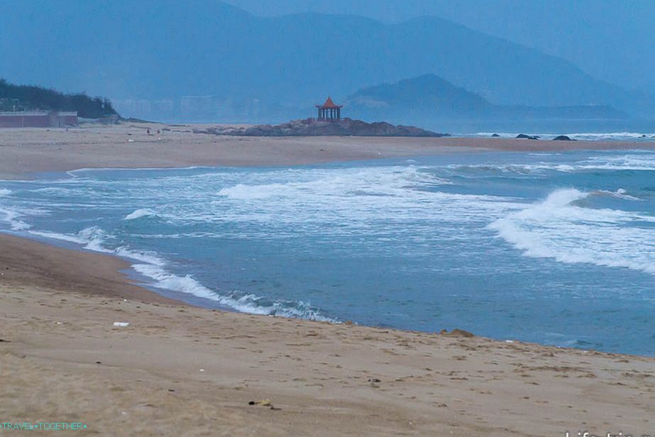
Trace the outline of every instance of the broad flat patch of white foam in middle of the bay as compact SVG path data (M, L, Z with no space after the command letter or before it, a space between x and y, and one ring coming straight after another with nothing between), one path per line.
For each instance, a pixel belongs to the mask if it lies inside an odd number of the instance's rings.
M282 178L285 182L270 181ZM229 223L230 231L241 237L402 233L412 238L419 233L439 238L436 222L479 222L505 213L516 201L439 191L451 182L432 169L414 166L305 170L292 177L269 175L268 183L254 182L231 184L210 205L177 214L187 221ZM411 225L399 228L397 223Z

